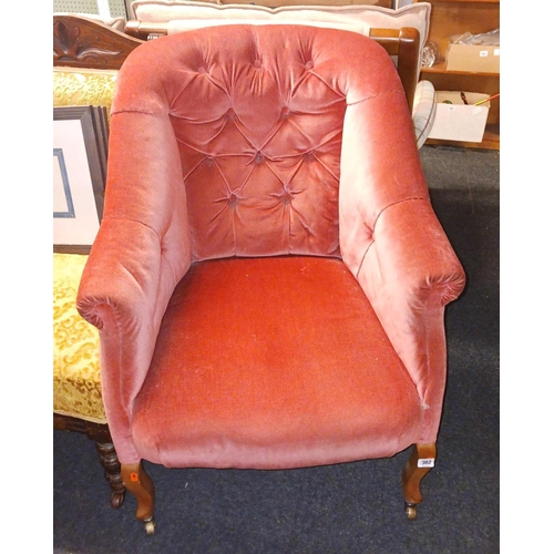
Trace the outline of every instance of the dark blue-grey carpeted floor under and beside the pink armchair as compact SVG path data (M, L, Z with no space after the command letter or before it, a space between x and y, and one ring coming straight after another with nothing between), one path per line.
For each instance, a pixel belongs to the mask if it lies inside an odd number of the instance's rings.
M418 520L403 513L408 451L308 470L168 470L156 533L127 496L120 510L94 444L53 433L53 552L59 554L489 554L500 551L500 154L424 146L439 219L468 274L447 311L449 378L438 463Z

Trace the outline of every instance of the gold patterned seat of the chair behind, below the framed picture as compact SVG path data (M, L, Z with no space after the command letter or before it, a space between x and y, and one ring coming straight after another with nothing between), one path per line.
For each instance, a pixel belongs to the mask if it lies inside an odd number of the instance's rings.
M75 308L88 256L53 256L54 413L106 423L100 384L98 329Z

